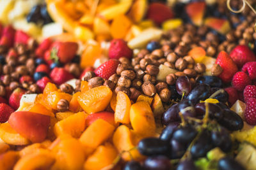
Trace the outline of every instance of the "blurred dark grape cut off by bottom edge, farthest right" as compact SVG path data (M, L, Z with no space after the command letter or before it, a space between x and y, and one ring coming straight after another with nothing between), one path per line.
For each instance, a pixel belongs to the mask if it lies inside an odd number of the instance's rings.
M245 170L245 168L239 164L235 159L230 157L224 157L218 162L219 170Z

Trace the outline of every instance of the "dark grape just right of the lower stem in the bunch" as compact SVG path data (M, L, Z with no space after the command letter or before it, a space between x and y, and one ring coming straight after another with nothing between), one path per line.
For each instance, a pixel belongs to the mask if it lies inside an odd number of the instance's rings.
M206 153L212 149L211 133L203 131L195 144L191 147L190 153L193 159L204 157Z

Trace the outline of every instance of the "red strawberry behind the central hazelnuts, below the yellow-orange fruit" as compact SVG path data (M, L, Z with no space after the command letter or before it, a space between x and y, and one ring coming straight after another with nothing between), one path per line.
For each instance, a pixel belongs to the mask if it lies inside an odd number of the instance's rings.
M108 56L109 59L119 59L120 57L127 57L131 59L132 50L127 46L123 39L113 39L109 46Z

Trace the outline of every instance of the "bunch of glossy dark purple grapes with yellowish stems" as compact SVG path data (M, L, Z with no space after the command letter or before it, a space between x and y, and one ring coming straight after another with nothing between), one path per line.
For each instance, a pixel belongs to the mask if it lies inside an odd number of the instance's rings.
M191 89L189 79L180 76L176 90L183 97L163 113L162 123L166 127L161 135L138 143L139 152L148 158L143 165L128 162L124 169L194 170L195 161L206 157L213 148L230 152L234 143L229 132L242 129L243 120L225 104L228 94L221 87L217 77L202 76ZM202 102L206 99L215 102ZM231 157L220 159L217 166L223 170L244 169Z

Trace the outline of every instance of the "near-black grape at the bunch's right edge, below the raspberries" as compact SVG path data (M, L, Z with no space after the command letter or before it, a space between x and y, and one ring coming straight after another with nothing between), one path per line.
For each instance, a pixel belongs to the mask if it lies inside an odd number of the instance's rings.
M220 125L226 127L229 131L238 131L243 129L244 122L242 118L232 110L223 110L223 117L217 120Z

